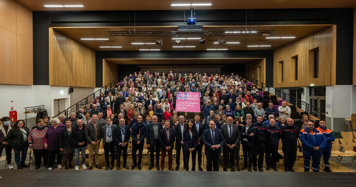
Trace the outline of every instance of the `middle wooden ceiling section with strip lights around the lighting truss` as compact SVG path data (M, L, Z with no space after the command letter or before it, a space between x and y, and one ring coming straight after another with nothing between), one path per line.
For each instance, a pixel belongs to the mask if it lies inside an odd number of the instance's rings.
M162 37L163 44L131 44L131 43L154 43L157 37L142 36L109 36L109 31L132 31L133 27L66 27L54 28L55 30L73 38L93 50L117 50L138 51L139 49L170 50L206 50L206 49L228 49L228 50L267 50L282 47L290 42L323 30L331 25L273 25L252 26L253 30L274 30L269 37L296 37L288 39L266 39L268 36L228 36L227 42L240 42L239 44L214 44L218 36L205 37L206 43L199 44L199 39L181 39L182 44L176 45L174 37ZM245 31L245 26L204 26L204 31ZM251 29L251 26L248 27ZM176 26L169 27L136 27L136 31L177 31ZM108 38L109 40L81 40L80 38ZM194 37L196 38L196 37ZM271 47L247 47L247 46L271 46ZM106 46L119 46L122 48L100 48ZM173 48L173 46L196 46L194 48Z

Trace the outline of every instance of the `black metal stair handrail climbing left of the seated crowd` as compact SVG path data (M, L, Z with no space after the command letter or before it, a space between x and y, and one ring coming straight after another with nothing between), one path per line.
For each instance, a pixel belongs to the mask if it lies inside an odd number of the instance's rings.
M82 100L80 100L79 102L77 102L74 105L70 106L69 108L65 109L64 111L59 112L56 116L53 116L53 118L58 117L59 115L62 115L62 114L64 116L68 117L68 115L70 113L77 112L79 108L83 108L83 106L88 105L89 103L94 101L96 96L100 96L100 93L108 90L108 88L112 88L113 86L117 85L120 81L122 81L125 78L125 76L129 76L130 74L133 74L133 72L132 71L128 71L124 75L121 75L119 78L117 78L114 81L110 82L109 84L105 85L101 89L99 89L99 90L95 91L94 93L90 94L89 96L83 98Z

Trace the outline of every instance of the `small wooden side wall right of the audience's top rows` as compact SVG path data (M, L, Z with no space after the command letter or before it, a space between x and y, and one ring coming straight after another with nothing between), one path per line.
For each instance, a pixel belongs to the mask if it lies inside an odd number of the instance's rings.
M246 75L261 82L266 82L266 59L264 58L256 62L247 63Z

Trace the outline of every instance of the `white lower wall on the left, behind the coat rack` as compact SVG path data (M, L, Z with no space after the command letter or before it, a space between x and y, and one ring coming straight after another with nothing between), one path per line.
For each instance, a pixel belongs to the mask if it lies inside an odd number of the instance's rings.
M72 103L76 103L100 88L74 88ZM55 116L54 99L66 99L66 108L70 105L69 87L46 85L6 85L0 84L0 97L3 99L0 107L0 117L9 116L11 107L17 111L17 119L25 119L24 107L46 105L48 116ZM74 98L75 94L75 98ZM13 102L11 102L13 101ZM36 114L27 114L27 118Z

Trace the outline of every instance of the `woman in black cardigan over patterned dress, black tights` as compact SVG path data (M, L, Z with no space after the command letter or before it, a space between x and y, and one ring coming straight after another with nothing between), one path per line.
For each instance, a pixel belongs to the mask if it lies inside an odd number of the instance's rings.
M73 169L72 160L73 160L73 136L72 136L72 121L70 119L66 120L66 128L64 128L61 133L59 133L59 150L63 155L64 169L68 170ZM69 164L67 161L69 160Z

